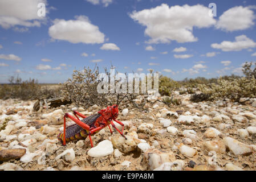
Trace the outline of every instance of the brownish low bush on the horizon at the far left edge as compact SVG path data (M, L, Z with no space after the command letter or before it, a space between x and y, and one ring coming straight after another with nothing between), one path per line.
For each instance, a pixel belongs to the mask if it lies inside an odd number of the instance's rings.
M35 98L51 98L59 95L59 89L49 89L47 86L42 87L35 79L22 81L17 76L9 78L10 84L0 86L0 98L6 100L8 98L19 98L21 100L34 100Z

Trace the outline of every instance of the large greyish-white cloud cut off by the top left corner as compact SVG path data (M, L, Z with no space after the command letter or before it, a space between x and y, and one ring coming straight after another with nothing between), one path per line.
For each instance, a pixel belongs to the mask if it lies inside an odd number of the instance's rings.
M0 1L0 25L6 29L14 26L40 27L41 22L46 19L37 14L38 4L41 2L47 5L46 0Z

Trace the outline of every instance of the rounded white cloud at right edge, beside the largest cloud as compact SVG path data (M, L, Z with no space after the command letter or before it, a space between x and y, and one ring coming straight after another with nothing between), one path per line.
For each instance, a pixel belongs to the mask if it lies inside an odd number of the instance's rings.
M254 19L255 15L249 7L235 6L220 16L216 28L225 31L246 30L254 25Z

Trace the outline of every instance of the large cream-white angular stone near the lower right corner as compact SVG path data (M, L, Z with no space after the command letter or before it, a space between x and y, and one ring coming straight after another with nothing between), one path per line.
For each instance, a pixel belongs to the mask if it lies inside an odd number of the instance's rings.
M252 148L250 146L243 144L236 139L225 137L223 140L229 150L235 155L251 154L252 152Z

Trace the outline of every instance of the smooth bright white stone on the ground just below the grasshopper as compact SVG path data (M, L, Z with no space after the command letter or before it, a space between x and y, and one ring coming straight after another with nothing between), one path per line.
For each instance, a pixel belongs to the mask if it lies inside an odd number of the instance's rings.
M101 158L113 153L113 145L109 140L103 140L96 147L88 151L88 155L94 158Z

